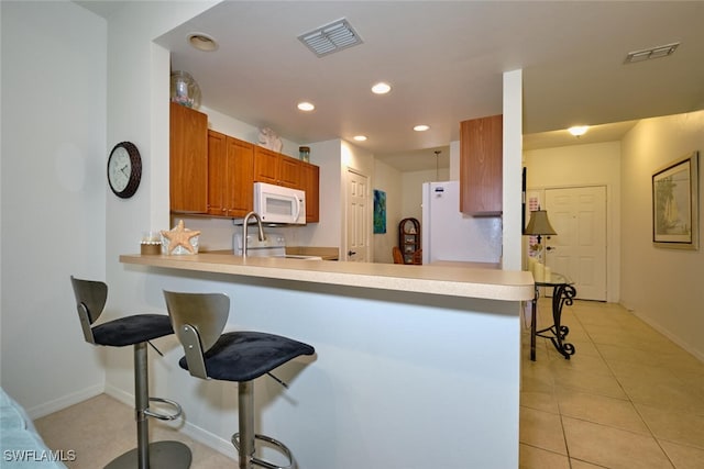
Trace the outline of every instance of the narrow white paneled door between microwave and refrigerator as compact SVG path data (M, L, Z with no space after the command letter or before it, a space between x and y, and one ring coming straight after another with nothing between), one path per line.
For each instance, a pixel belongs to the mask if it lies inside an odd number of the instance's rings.
M365 263L369 247L369 178L348 168L345 259Z

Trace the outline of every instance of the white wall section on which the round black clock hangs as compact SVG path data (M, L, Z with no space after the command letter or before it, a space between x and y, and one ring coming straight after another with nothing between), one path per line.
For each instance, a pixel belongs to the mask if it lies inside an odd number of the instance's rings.
M108 21L107 146L134 142L142 149L143 165L150 168L132 199L107 198L105 259L112 299L108 317L148 311L146 275L124 268L119 256L139 252L143 231L169 224L169 53L153 40L215 3L124 2ZM106 355L107 390L132 401L132 350L110 348Z

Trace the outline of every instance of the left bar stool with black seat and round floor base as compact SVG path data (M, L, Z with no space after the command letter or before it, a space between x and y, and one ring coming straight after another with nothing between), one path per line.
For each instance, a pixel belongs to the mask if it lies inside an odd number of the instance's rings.
M148 375L146 344L148 340L174 333L170 320L164 314L135 314L120 317L92 327L98 321L108 300L108 286L95 280L79 280L70 277L76 295L76 308L84 337L87 343L111 347L134 346L134 410L136 420L136 448L113 459L106 469L122 468L168 468L190 467L190 449L180 442L148 442L147 417L164 421L178 418L180 405L168 399L148 397ZM152 345L150 343L150 345ZM152 345L152 347L154 347ZM156 349L156 348L154 348ZM158 350L156 350L158 351ZM160 402L174 409L173 414L161 414L150 410L150 401Z

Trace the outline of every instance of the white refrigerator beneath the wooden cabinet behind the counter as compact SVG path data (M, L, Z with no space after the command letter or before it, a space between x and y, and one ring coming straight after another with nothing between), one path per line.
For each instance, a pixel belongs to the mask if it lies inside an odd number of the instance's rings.
M422 264L438 260L499 263L501 216L460 212L460 182L422 185Z

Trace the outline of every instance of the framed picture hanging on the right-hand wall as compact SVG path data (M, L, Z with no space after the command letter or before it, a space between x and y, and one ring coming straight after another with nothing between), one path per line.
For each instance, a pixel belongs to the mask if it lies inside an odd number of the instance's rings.
M657 247L698 249L698 152L652 175L652 243Z

